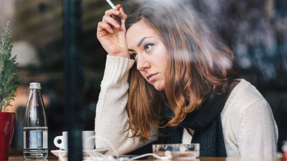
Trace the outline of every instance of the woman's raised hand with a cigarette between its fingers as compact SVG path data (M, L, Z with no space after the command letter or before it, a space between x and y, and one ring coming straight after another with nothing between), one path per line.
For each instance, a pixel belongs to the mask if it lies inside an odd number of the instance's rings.
M103 20L98 23L97 38L109 55L130 58L125 26L128 16L120 4L116 8L107 10ZM120 16L121 22L117 21L116 16Z

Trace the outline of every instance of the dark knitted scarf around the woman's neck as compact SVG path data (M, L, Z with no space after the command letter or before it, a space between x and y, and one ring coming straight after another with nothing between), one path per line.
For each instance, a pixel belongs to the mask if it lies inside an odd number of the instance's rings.
M227 85L229 89L229 85ZM228 90L226 90L228 91ZM194 130L191 143L200 144L200 157L226 157L220 113L226 102L227 92L206 100L199 110L188 113L177 127L160 129L158 144L182 143L183 128ZM174 116L169 107L164 108L166 121Z

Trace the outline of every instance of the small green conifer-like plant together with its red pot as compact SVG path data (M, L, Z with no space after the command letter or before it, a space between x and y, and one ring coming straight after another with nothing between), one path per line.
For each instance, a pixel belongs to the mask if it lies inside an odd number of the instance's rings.
M16 56L11 57L12 47L10 22L7 22L0 39L0 161L8 160L16 118L14 112L7 112L19 81Z

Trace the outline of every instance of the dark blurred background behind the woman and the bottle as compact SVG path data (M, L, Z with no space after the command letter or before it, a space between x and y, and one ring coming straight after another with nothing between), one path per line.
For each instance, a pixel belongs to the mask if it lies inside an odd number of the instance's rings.
M189 0L200 17L234 52L239 75L270 103L279 128L278 150L287 140L287 0ZM137 0L113 0L125 6ZM83 130L94 130L95 110L106 52L97 24L110 6L82 0L81 59L84 72ZM126 8L129 12L129 7ZM21 79L9 112L16 112L11 153L22 153L23 117L29 83L40 82L48 121L48 147L65 131L65 80L62 0L0 0L0 32L11 21L12 54Z

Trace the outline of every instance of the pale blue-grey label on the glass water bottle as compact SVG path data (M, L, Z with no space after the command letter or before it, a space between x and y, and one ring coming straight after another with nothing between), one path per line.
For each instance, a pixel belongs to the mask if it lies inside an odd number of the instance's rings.
M47 130L24 130L24 149L47 149Z

